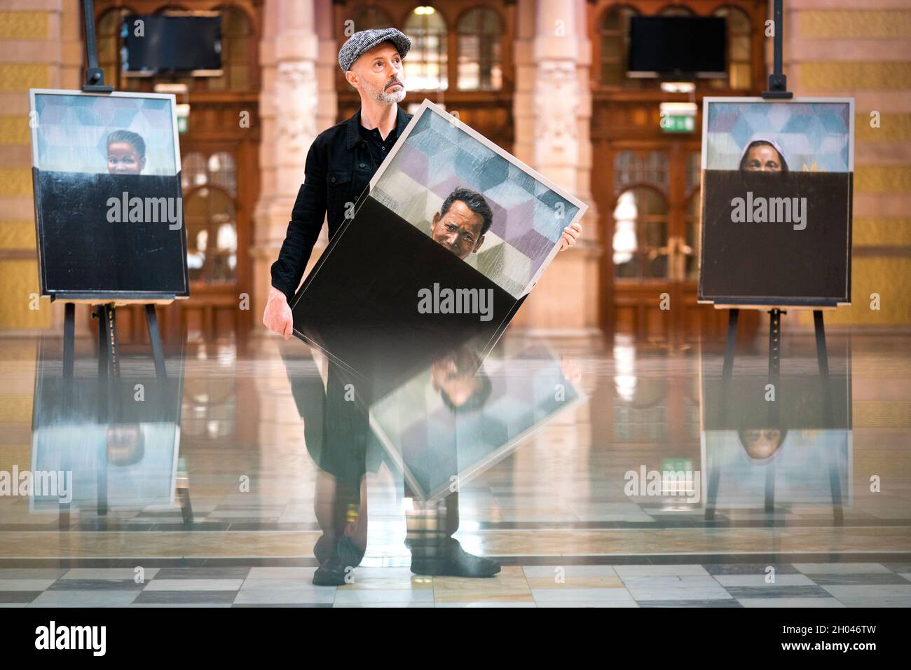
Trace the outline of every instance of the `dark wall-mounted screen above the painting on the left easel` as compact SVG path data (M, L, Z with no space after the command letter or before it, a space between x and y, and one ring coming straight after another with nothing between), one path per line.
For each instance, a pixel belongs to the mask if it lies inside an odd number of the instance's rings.
M128 15L121 36L123 69L128 77L159 74L220 77L222 74L218 12Z

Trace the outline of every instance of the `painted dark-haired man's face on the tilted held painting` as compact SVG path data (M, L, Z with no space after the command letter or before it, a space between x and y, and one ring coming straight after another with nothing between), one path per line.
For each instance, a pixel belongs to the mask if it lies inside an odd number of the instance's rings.
M484 196L470 189L455 189L446 196L440 211L430 223L434 242L445 246L463 261L477 253L484 243L484 233L494 222L494 212Z

